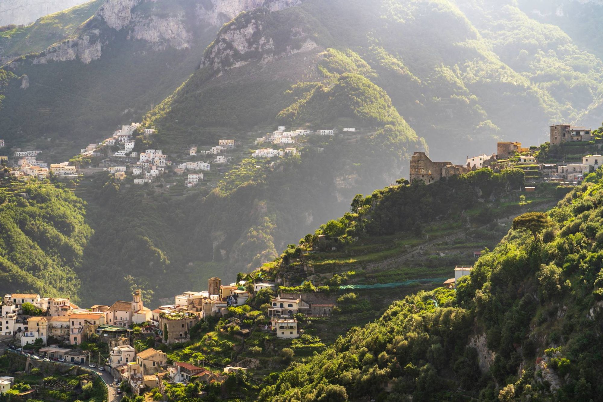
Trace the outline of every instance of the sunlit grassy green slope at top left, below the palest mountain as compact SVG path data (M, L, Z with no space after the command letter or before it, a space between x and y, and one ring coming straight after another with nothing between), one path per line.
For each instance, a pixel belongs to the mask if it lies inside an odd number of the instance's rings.
M27 27L0 32L0 57L40 53L48 46L77 33L90 19L103 0L92 0L65 11L39 18Z

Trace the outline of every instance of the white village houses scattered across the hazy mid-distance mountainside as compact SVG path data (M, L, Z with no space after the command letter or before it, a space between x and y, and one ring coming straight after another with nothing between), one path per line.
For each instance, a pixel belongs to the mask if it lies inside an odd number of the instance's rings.
M336 129L317 130L316 132L306 129L295 129L286 131L285 126L279 126L273 133L264 137L256 138L256 144L268 142L273 148L259 148L251 153L256 159L279 158L289 155L297 155L296 147L287 146L299 144L297 138L310 135L330 135L336 133ZM345 132L358 132L355 128L344 128ZM226 154L236 148L234 139L219 139L218 145L201 149L197 145L190 145L182 150L183 158L174 159L166 155L162 150L140 148L142 142L148 142L150 136L156 133L155 129L142 128L141 123L131 123L121 126L113 135L98 144L89 144L81 148L78 160L48 164L37 157L40 150L14 150L14 161L10 164L8 156L0 156L0 164L12 167L10 174L22 179L36 177L46 179L52 175L57 180L77 180L83 176L89 176L99 172L112 175L116 182L127 182L134 185L153 183L155 180L171 173L174 177L183 177L183 185L186 188L197 187L207 178L204 172L210 171L210 164L224 165L229 163ZM138 142L137 142L138 141ZM285 148L279 148L280 146ZM0 148L5 147L4 140L0 139ZM138 151L140 150L140 151ZM83 163L92 161L95 163ZM127 178L131 180L126 180ZM166 188L171 187L177 181L166 183ZM129 184L128 184L129 185Z

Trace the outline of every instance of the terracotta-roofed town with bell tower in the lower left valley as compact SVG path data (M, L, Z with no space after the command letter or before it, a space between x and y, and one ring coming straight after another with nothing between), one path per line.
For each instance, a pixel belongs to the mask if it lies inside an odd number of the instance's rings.
M92 305L80 308L69 298L46 298L34 293L8 293L1 304L2 330L0 342L31 360L96 364L108 371L116 381L127 383L134 394L153 389L162 383L182 383L201 380L223 382L230 372L245 372L256 363L249 359L215 366L195 366L189 362L171 361L159 349L136 347L136 339L154 337L163 345L191 340L191 331L201 320L209 317L231 317L224 331L236 338L250 336L250 329L232 318L233 307L245 305L258 292L275 289L270 282L238 281L223 285L220 278L210 278L208 289L175 295L172 304L159 305L151 310L144 305L142 291L134 290L130 301L115 301L112 305ZM267 336L291 340L300 337L303 329L297 314L328 317L335 304L324 304L306 294L282 293L270 301L268 325L262 326ZM235 324L238 323L241 325ZM104 343L109 356L93 363L89 350L80 346L89 342ZM96 361L95 361L96 362ZM0 381L9 381L0 378ZM10 381L9 381L10 382ZM0 383L10 389L10 383Z

